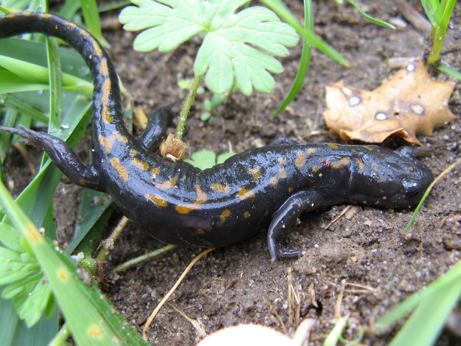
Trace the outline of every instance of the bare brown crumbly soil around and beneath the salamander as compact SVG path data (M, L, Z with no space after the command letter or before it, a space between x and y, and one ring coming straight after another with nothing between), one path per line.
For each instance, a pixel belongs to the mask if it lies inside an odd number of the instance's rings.
M419 3L411 1L411 5L421 10ZM288 1L288 5L301 20L302 1ZM236 93L219 106L207 122L198 117L204 98L211 94L207 91L198 95L184 137L191 152L209 149L219 153L228 150L229 145L240 152L278 136L302 138L307 143L342 143L326 131L321 116L325 110L325 86L343 79L346 84L361 89L374 89L388 76L386 56L419 57L427 47L424 34L411 24L390 30L367 22L349 5L337 6L331 0L316 1L313 5L316 34L343 53L351 68L339 66L313 50L303 89L289 110L277 119L272 119L272 114L290 90L301 54L300 45L290 49L291 55L282 60L284 72L275 76L277 86L270 95L253 93L247 97ZM396 4L390 0L367 1L363 8L383 20L402 18ZM444 63L457 71L461 70L460 10L458 3L442 54ZM105 16L114 18L116 15L113 12ZM183 100L187 90L179 89L176 83L179 79L193 77L193 59L199 39L192 39L170 54L161 54L158 51L135 52L132 49L134 37L135 34L123 30L106 31L106 38L112 45L110 54L124 86L136 100L135 105L149 112L154 105ZM446 75L434 77L449 79ZM450 102L456 116L461 110L459 89L457 84ZM179 111L180 107L178 102L174 109ZM424 144L422 149L416 148L420 159L437 175L459 155L460 120L455 119L435 131L433 137L420 136L419 140ZM88 143L87 139L81 144L82 153ZM34 149L31 153L39 156ZM30 181L30 173L18 155L9 155L7 160L6 174L14 181L13 192L17 194ZM346 205L304 214L301 225L292 227L286 237L287 246L302 249L303 257L281 259L277 265L272 265L266 234L261 232L202 258L177 288L170 303L189 317L201 320L207 333L238 323L260 323L292 334L300 319L315 316L319 322L313 329L310 345L317 346L323 344L331 331L331 319L344 279L371 289L345 287L340 313L341 316L350 314L350 317L343 336L353 339L364 329L362 344L385 345L393 333L376 336L369 333L369 326L386 309L436 280L461 258L460 174L457 168L437 185L410 232L404 231L412 214L410 209L361 206L353 218L341 217L329 230L324 227ZM63 242L70 240L82 192L73 185L60 185L56 192L58 232ZM120 217L116 212L107 232ZM129 224L116 241L106 269L164 245ZM140 331L139 326L156 306L157 297L169 291L201 250L177 247L135 268L107 276L103 289ZM290 276L299 304L293 294L289 299ZM155 345L195 345L198 341L192 324L169 305L155 317L148 339ZM449 332L444 332L437 341L437 345L454 344L461 342Z

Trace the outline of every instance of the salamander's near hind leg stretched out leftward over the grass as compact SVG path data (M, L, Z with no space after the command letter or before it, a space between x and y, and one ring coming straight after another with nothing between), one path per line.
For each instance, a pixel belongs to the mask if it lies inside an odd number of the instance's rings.
M71 179L72 183L91 190L106 191L100 182L98 173L92 167L85 166L69 144L48 133L36 132L23 125L19 127L20 129L0 126L0 131L19 135L25 138L28 144L45 150L54 164Z

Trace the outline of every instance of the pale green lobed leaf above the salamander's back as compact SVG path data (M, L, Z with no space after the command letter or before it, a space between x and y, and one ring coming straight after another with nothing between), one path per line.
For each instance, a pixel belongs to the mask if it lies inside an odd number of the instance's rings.
M125 30L143 31L136 37L135 49L166 52L205 31L205 39L194 64L196 75L206 73L207 87L223 94L234 84L245 95L253 88L270 92L275 81L270 75L282 72L278 60L250 45L276 56L288 55L286 47L298 42L296 31L281 23L266 7L253 6L238 13L248 0L165 1L132 0L120 13ZM269 72L268 72L269 71Z

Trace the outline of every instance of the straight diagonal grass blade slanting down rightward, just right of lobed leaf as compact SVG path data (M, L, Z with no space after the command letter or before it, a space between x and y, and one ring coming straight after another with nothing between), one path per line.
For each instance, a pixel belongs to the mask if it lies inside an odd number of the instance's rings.
M334 48L332 48L328 43L319 39L314 34L305 30L298 20L293 16L287 6L285 6L280 0L262 0L267 7L272 9L277 15L282 18L285 22L293 26L296 31L304 37L305 40L310 42L315 48L320 52L330 57L332 60L336 61L338 64L349 67L349 62L343 58L343 54L339 54Z

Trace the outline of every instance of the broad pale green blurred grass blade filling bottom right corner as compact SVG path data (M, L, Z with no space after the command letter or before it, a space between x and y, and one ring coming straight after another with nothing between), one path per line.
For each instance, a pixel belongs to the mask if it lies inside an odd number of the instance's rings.
M389 346L431 346L461 294L461 278L426 297Z

